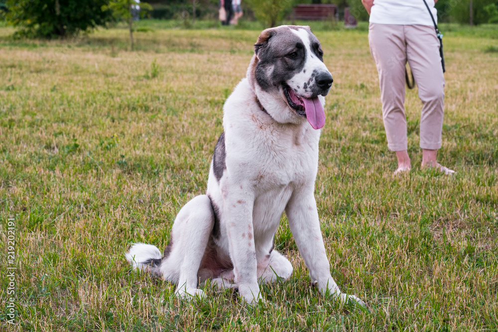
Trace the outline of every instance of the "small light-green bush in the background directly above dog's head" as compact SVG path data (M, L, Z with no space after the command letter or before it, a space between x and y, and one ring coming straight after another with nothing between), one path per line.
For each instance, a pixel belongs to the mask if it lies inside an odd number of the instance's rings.
M256 18L269 27L274 27L285 16L287 16L294 5L295 0L246 0L254 12Z

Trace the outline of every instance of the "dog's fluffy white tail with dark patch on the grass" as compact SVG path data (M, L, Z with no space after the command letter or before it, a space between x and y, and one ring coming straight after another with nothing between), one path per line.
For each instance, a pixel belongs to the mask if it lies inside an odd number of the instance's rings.
M134 243L124 256L131 264L133 271L149 272L154 276L161 275L162 255L156 246L145 243Z

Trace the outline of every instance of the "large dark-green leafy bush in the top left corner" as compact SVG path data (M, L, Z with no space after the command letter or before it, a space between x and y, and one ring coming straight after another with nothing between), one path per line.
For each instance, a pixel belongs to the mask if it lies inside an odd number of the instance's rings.
M7 0L5 18L17 35L65 38L105 25L113 19L102 10L108 0Z

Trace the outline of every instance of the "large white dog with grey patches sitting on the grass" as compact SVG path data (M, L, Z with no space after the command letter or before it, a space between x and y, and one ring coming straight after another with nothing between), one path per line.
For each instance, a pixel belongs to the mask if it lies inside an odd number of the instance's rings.
M364 305L341 293L331 276L314 197L324 96L332 82L308 26L263 30L247 77L224 105L206 195L180 210L162 254L153 245L133 244L125 254L132 268L176 283L180 298L205 297L198 285L211 279L257 303L260 283L292 274L273 243L285 211L320 293Z

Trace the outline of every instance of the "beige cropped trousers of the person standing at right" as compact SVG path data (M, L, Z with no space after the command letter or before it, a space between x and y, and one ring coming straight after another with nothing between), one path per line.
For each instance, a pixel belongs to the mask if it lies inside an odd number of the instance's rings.
M387 147L407 150L405 65L408 61L422 101L420 147L441 147L444 76L434 27L370 23L370 52L377 66Z

